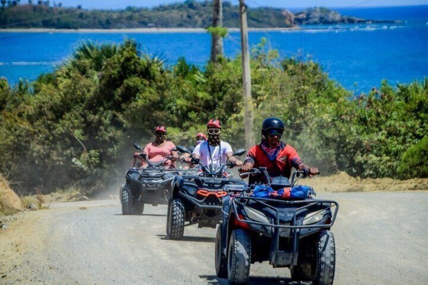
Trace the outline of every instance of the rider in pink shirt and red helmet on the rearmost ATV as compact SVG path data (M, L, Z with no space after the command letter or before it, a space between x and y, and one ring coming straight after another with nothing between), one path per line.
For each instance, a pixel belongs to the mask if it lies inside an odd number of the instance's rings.
M178 153L172 150L175 148L175 144L166 140L167 128L165 126L157 126L154 134L156 136L154 142L147 144L144 147L143 153L147 155L147 159L150 161L156 162L164 159L165 162L163 165L175 167L175 160L178 158ZM173 156L172 160L165 158L169 155ZM146 165L147 162L143 161L142 167Z

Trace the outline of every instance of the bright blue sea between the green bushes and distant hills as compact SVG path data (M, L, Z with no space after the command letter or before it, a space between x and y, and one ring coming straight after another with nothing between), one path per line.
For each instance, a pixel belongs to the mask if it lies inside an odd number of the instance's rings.
M410 83L428 76L428 6L335 9L365 19L401 20L394 24L314 25L295 31L249 32L250 45L268 39L282 56L319 63L330 78L356 93L368 92L382 79ZM176 63L179 56L203 67L210 54L210 35L186 33L6 33L0 31L0 76L15 84L34 80L64 62L83 40L123 42L135 39L141 51ZM240 53L240 34L224 41L225 53Z

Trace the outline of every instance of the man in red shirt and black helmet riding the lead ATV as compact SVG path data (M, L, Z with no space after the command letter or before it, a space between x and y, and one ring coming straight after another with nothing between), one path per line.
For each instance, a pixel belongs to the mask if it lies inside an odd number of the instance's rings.
M245 158L241 173L249 172L253 167L266 167L270 177L290 178L291 168L309 170L309 175L318 173L318 168L303 163L296 150L280 141L284 133L284 123L278 118L267 118L261 128L261 143L253 146ZM262 182L264 177L252 177L250 183Z

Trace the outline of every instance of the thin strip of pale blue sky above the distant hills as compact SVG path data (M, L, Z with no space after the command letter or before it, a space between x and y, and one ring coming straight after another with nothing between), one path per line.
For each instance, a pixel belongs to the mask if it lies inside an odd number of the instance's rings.
M225 0L223 0L226 2ZM21 3L27 2L21 0ZM33 1L36 2L36 1ZM53 0L50 0L53 3ZM63 6L82 5L84 9L121 9L127 6L153 7L160 4L184 2L177 0L56 0ZM237 4L239 0L229 1ZM303 8L313 6L324 7L376 7L376 6L407 6L428 5L428 0L245 0L250 7L269 6L278 8Z

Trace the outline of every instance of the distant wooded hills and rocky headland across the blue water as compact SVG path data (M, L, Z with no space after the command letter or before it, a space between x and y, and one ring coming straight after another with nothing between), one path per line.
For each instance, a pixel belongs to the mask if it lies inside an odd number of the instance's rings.
M17 5L17 1L5 2L4 7L0 8L0 28L206 28L211 25L212 20L212 1L188 0L151 9L128 7L125 10L84 10L80 6L60 6L51 7L49 1L38 1L36 5ZM295 14L288 10L267 7L248 10L248 26L251 28L361 22L373 21L341 16L338 12L326 8L311 8ZM238 6L233 6L230 2L223 3L223 25L239 27Z

